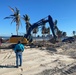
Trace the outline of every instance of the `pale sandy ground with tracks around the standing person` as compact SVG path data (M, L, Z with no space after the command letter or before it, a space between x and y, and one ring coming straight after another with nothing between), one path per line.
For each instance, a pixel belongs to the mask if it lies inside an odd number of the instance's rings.
M25 47L22 67L12 49L0 49L0 75L76 75L76 42L57 47Z

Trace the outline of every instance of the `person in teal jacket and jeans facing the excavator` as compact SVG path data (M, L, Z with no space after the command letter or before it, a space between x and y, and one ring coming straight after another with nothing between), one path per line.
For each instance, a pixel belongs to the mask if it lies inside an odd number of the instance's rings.
M24 45L21 44L21 41L15 45L14 51L16 53L16 67L22 66L22 52L24 51Z

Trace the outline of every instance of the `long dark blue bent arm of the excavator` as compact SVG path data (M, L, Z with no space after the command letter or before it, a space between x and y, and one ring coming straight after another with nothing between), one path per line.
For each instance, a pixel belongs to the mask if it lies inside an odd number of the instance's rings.
M47 19L46 19L46 18L47 18ZM56 40L54 23L53 23L52 17L51 17L50 15L48 15L48 17L46 17L46 18L43 18L43 19L39 20L38 22L32 24L32 25L30 26L27 34L26 34L24 37L26 37L26 38L31 37L31 31L32 31L34 28L36 28L36 27L38 27L38 26L42 26L42 25L44 25L44 24L46 24L46 23L49 23L50 28L51 28L51 31L52 31L52 34L53 34L53 36L54 36L54 39ZM30 39L29 39L29 40L30 40Z

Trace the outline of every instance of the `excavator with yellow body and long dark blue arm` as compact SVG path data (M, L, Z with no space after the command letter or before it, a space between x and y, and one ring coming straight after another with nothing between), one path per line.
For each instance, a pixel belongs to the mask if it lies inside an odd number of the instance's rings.
M56 41L56 34L55 34L55 25L54 25L54 22L52 20L52 17L50 15L48 15L47 17L45 18L42 18L41 20L39 20L38 22L32 24L29 29L28 29L28 32L27 34L25 34L24 36L19 36L19 35L12 35L9 39L9 42L10 43L17 43L19 40L21 40L21 42L23 44L27 44L29 42L32 42L33 38L32 38L32 35L31 35L31 32L34 28L38 27L38 26L43 26L44 24L46 23L49 23L50 25L50 28L51 28L51 31L52 31L52 34L53 34L53 38L54 38L54 41ZM58 29L58 28L57 28Z

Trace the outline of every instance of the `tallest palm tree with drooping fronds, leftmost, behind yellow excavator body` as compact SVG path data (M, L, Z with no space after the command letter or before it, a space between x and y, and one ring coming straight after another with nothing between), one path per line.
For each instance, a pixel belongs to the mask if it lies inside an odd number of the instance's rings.
M15 7L15 9L11 8L9 6L10 10L13 12L13 15L10 15L9 17L5 17L4 19L12 19L12 22L16 22L16 32L17 32L17 35L18 35L18 30L19 30L19 26L20 26L20 13L19 13L19 10Z

